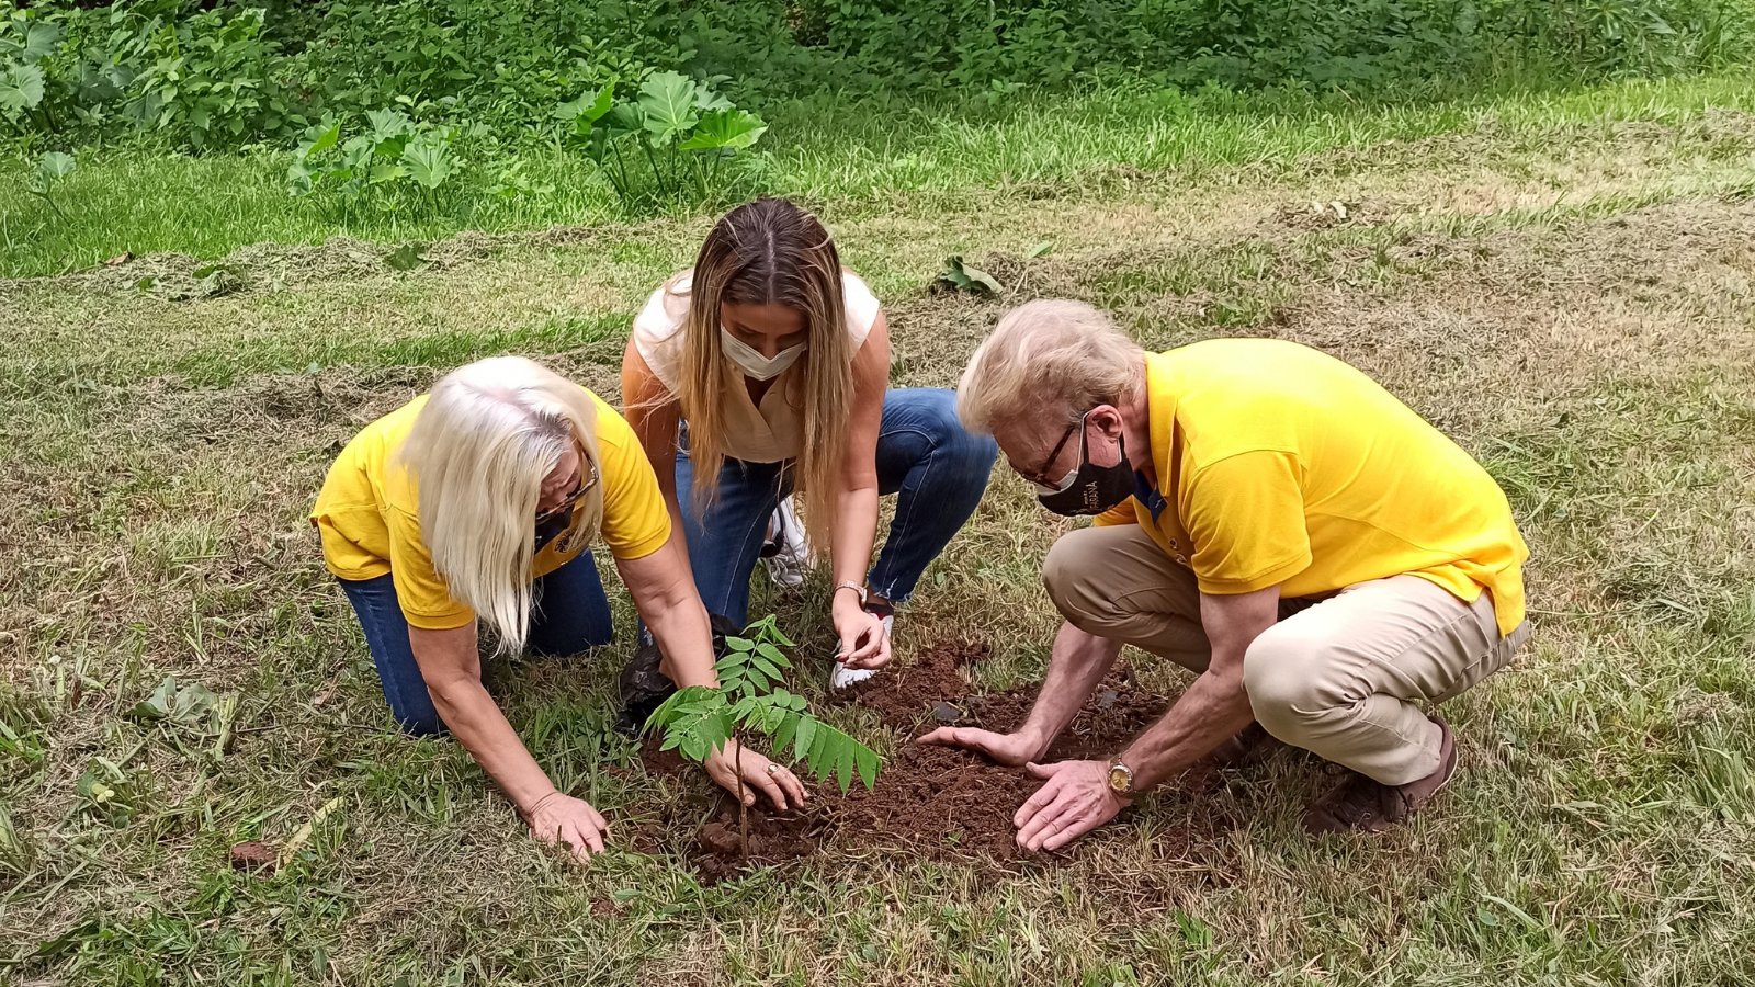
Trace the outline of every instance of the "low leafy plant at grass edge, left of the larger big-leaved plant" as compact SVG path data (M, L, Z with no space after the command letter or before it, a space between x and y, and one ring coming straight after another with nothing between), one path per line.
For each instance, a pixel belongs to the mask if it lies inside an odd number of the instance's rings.
M430 204L458 174L453 128L414 123L395 109L370 111L365 123L346 140L335 118L311 126L286 169L293 195L333 195L344 209L386 209L411 198Z

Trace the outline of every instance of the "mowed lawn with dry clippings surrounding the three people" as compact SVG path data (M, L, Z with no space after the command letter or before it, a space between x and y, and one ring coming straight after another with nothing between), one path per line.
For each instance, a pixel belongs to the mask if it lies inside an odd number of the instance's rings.
M614 852L539 850L467 752L395 734L304 522L328 462L488 353L614 395L627 321L709 218L470 234L412 272L362 242L225 244L239 285L211 299L135 288L191 276L176 256L0 283L0 962L49 983L1755 980L1755 119L1715 86L1599 97L1644 93L1634 119L1483 102L1437 135L1186 176L941 172L893 204L848 177L818 202L888 306L899 383L951 383L1007 304L1071 295L1151 346L1323 348L1499 478L1536 641L1446 708L1451 789L1369 839L1306 838L1334 778L1279 752L1062 859L939 864L842 832L704 887L683 857L707 783L609 729L632 632L612 578L616 645L490 674ZM928 293L949 253L1002 297ZM1037 676L1037 566L1065 527L995 474L899 620L900 660L976 636L972 688ZM800 669L827 655L823 588L758 592ZM142 715L168 674L214 710ZM226 859L244 839L297 848L251 876Z

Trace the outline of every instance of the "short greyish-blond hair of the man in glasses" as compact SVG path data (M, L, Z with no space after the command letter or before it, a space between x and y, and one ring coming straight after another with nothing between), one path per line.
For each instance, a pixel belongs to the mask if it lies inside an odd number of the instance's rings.
M1065 299L1027 302L969 358L956 416L972 432L1025 416L1078 421L1099 404L1121 404L1144 386L1146 351L1109 316Z

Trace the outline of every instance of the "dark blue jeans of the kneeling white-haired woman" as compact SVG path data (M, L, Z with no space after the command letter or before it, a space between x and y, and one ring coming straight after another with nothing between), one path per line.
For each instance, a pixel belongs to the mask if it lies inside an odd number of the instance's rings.
M337 581L360 616L365 645L372 650L372 664L384 687L384 701L397 724L414 736L442 734L446 727L426 692L426 680L414 664L409 622L402 616L391 576ZM530 653L572 655L607 645L612 632L609 597L604 595L590 551L537 580L526 639Z

